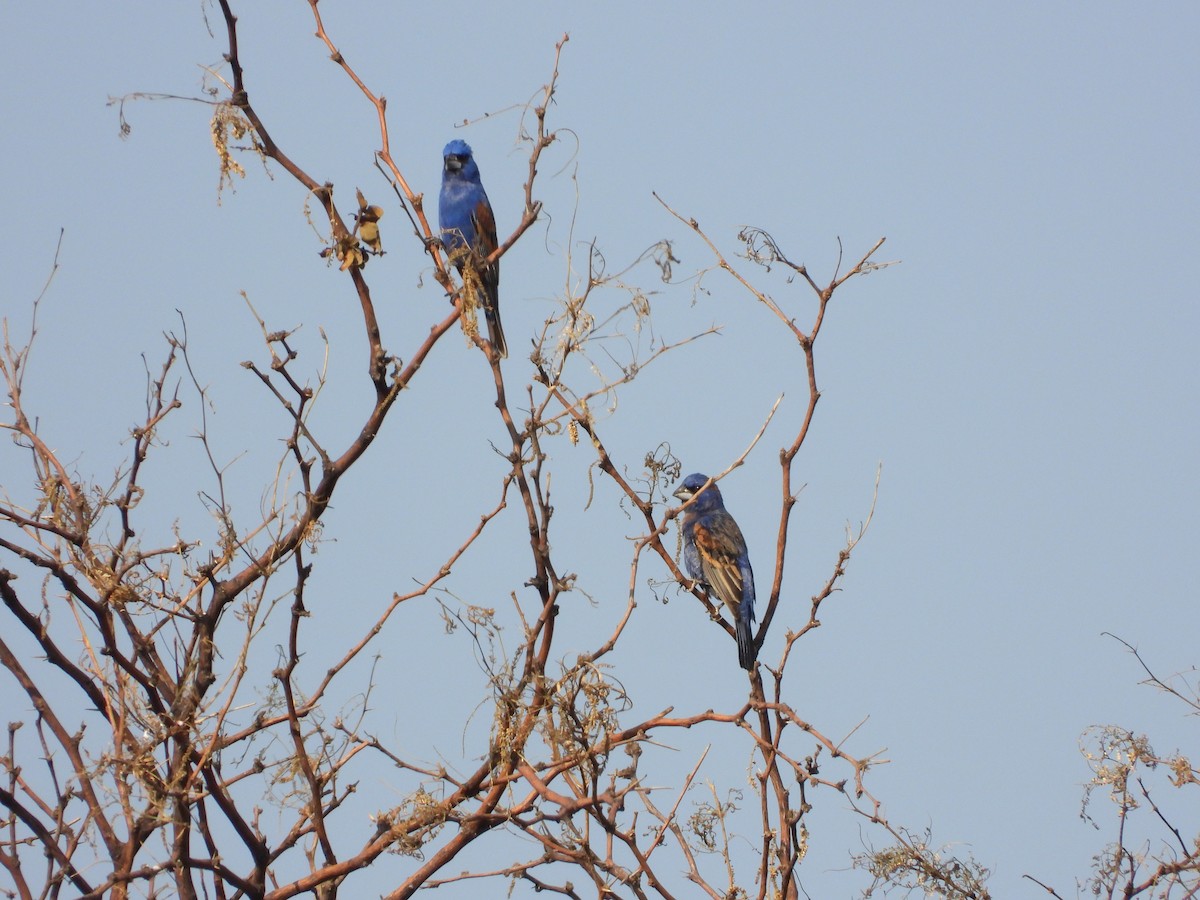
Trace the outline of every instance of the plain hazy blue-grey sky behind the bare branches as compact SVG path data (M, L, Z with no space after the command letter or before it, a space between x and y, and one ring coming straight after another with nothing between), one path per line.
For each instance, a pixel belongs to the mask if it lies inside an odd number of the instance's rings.
M336 185L343 211L355 187L386 210L389 252L366 275L385 344L408 356L445 307L372 166L374 112L312 36L306 4L236 6L250 96L276 140ZM240 292L269 328L302 325L306 372L320 364L319 329L328 332L329 388L316 421L332 446L353 439L370 392L358 304L347 278L317 256L302 188L244 157L247 178L218 205L210 109L199 103L126 104L132 133L118 134L109 97L202 96L202 66L222 71L220 13L208 11L212 37L205 8L8 10L2 314L14 340L28 334L65 228L28 386L49 443L82 473L104 478L143 409L140 354L157 368L162 332L180 331L181 311L197 377L210 389L214 445L222 461L236 460L229 488L248 518L287 424L238 365L263 360ZM431 216L442 146L462 137L502 233L517 223L526 178L517 106L546 82L553 44L570 32L550 120L563 140L544 157L536 191L550 218L503 262L510 396L529 378L522 349L571 281L564 251L578 265L594 239L618 270L668 238L677 276L712 264L652 191L696 217L731 258L739 227L760 226L818 281L833 272L839 238L850 260L887 236L878 258L902 264L839 292L818 343L823 397L797 461L806 487L785 581L794 614L781 611L762 659L774 662L787 626L803 623L846 522L869 509L882 463L872 528L845 590L823 607L823 626L797 648L788 700L830 737L865 720L846 748L859 756L886 748L890 763L869 782L886 812L917 830L931 826L936 841L968 845L995 870L995 895L1044 896L1024 874L1072 895L1111 835L1079 817L1088 778L1081 732L1118 722L1147 731L1162 752L1195 748L1194 721L1138 686L1135 660L1102 632L1136 644L1164 676L1198 659L1200 7L736 12L683 2L325 0L320 8L350 64L388 97L392 155L431 200ZM666 288L652 269L629 281L660 292L652 296L658 337L722 326L648 368L600 420L632 472L664 440L685 472L722 469L786 395L746 466L722 485L766 594L776 452L806 400L800 354L719 274L695 298L688 286ZM806 288L778 272L757 283L808 328ZM600 292L596 308L620 300ZM331 658L494 505L506 463L488 446L504 438L490 383L478 352L449 335L343 484L308 595L311 634L328 641ZM211 479L190 437L199 404L194 392L182 396L172 446L149 473L157 493L145 515L164 536L175 520L211 533L197 499ZM560 617L557 646L574 659L624 607L625 538L637 527L605 480L584 509L582 476L594 458L586 444L559 440L551 454L556 552L595 601L576 594ZM11 448L0 450L10 491L28 490L22 464ZM516 508L502 517L451 580L458 600L510 610L504 595L529 575L523 527ZM643 571L644 595L612 658L637 704L630 716L737 708L745 680L732 641L689 599L668 592L671 602L656 602L648 576L665 571L653 563ZM511 650L515 630L508 636ZM444 635L426 601L397 614L379 652L376 730L414 756L428 754L427 730L440 752L461 755L462 720L482 689L466 638ZM328 660L314 649L306 662L318 677ZM485 710L469 730L487 725ZM727 731L696 740L736 743ZM688 752L680 768L696 758ZM743 784L745 748L724 748L709 766L708 778ZM398 803L410 790L391 778L362 775L380 806L389 803L380 796L395 792ZM862 835L876 844L882 835L864 830L841 798L812 799L803 884L814 898L850 895L864 882L846 871L848 854L863 848ZM1194 815L1183 824L1194 828ZM371 826L362 817L343 827L365 836ZM383 859L360 889L384 892L410 865Z

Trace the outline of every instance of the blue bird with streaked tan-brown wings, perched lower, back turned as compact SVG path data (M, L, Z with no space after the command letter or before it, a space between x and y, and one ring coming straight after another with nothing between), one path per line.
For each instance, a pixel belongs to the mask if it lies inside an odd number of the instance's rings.
M674 496L696 499L683 511L683 558L688 574L715 594L733 614L738 632L738 664L754 668L754 571L742 529L725 510L721 491L704 487L707 475L688 475ZM704 490L701 490L704 488ZM698 496L697 496L698 494Z

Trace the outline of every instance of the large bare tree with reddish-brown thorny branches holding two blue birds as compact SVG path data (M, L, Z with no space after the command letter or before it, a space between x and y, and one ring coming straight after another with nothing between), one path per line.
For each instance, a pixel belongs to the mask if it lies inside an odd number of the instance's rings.
M227 71L226 92L212 104L212 133L221 176L240 170L239 154L257 155L316 198L320 212L314 218L328 222L324 256L344 272L346 288L358 300L373 400L348 439L318 430L312 410L323 376L301 374L294 334L260 318L263 356L246 367L287 422L284 452L275 479L264 486L260 512L250 518L235 514L241 506L210 452L204 497L215 533L155 535L139 518L143 467L152 454L166 451L160 436L185 401L198 401L199 436L210 448L203 418L206 389L192 371L186 329L169 336L162 361L148 373L145 414L132 432L128 458L103 484L82 476L68 454L40 437L38 421L54 410L32 409L26 400L36 324L24 341L6 331L0 373L8 415L2 426L29 462L24 481L6 476L0 502L0 599L7 616L0 662L6 690L22 696L28 710L10 724L0 757L6 810L0 864L11 878L10 895L332 898L344 887L346 895L356 896L384 854L400 854L408 864L389 887L391 898L480 881L572 898L670 898L697 890L712 898L797 898L808 815L821 796L895 841L889 851L859 860L877 884L901 882L907 875L898 874L908 874L938 895L986 898L982 868L936 852L926 839L886 820L866 784L876 757L852 755L842 740L809 721L796 707L787 674L793 649L820 625L818 612L839 589L870 523L868 512L830 560L828 575L814 586L806 618L788 620L792 613L785 613L780 596L798 492L793 463L821 397L814 347L835 294L886 265L875 260L883 240L847 268L839 264L818 278L761 229L738 235L734 264L695 220L662 204L685 233L707 244L713 268L732 277L742 301L764 306L794 340L808 402L778 455L775 553L767 565L760 563L769 581L756 644L762 647L768 629L785 629L780 656L750 673L745 700L736 708L668 708L634 716L610 658L649 589L648 577L659 578L658 589L680 586L714 626L733 631L680 571L668 538L679 512L668 487L680 474L679 460L667 444L644 458L622 458L606 443L607 420L599 410L640 372L707 332L650 342L646 350L630 342L624 358L596 353L605 336L646 325L652 302L646 292L624 287L624 272L607 274L593 250L582 288L560 299L535 337L521 373L529 386L510 396L514 370L506 376L480 338L472 286L457 282L448 268L424 198L391 155L385 102L338 52L317 0L310 7L317 38L378 114L378 167L449 304L402 355L388 349L396 337L385 341L367 276L368 263L382 252L384 204L360 191L353 208L340 205L332 184L310 174L276 143L246 83L236 17L229 0L220 0ZM494 259L542 212L539 162L558 137L547 114L565 43L564 36L551 77L529 110L523 210ZM676 260L671 245L662 242L638 262L670 281ZM756 266L787 271L800 295L778 300L756 288L746 274ZM598 316L589 302L594 292L614 286L628 290L628 302ZM305 671L306 648L320 640L306 628L311 606L320 602L310 590L314 551L323 528L347 527L336 516L326 523L331 499L388 427L390 413L403 404L431 350L460 329L486 360L481 371L491 376L490 385L474 386L494 396L506 434L503 484L478 523L452 541L454 550L428 560L421 583L396 593L382 610L348 613L359 617L359 638L324 672ZM601 372L599 382L595 372ZM745 451L719 478L751 458L763 463L755 452L763 430L746 436ZM264 444L278 437L265 428L252 436ZM638 532L617 601L624 611L574 661L562 659L554 642L566 608L562 601L576 590L572 563L552 540L558 532L547 445L564 439L590 448L600 473L590 488L596 502L622 504ZM480 452L492 451L481 446ZM451 571L509 506L522 516L520 546L533 572L528 583L511 593L510 610L445 602L439 592ZM661 581L664 572L668 582ZM394 613L409 604L442 604L448 626L472 637L486 672L487 733L452 763L428 763L439 758L433 748L406 754L377 737L367 701L373 680L354 704L334 700L335 685L352 664L370 659ZM512 626L520 640L509 648L500 631ZM272 629L282 642L268 637ZM276 643L275 664L264 664ZM668 785L646 778L647 761L688 730L744 744L755 760L749 800L738 799L733 779L718 784L713 775L701 778L703 752L676 763ZM400 803L376 804L368 822L356 811L356 794L376 778L371 766L380 763L419 787ZM503 864L479 865L466 854L485 840L496 844L492 856ZM746 859L750 871L736 865Z

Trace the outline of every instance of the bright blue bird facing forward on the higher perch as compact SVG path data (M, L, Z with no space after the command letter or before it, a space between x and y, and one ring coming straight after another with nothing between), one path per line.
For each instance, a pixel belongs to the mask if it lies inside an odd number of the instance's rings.
M509 347L504 342L504 329L500 328L500 264L482 264L499 246L492 204L487 202L484 184L479 180L479 166L475 164L467 142L451 140L442 151L442 196L438 198L442 244L460 274L469 265L479 276L480 305L487 318L487 338L503 359L509 355Z

